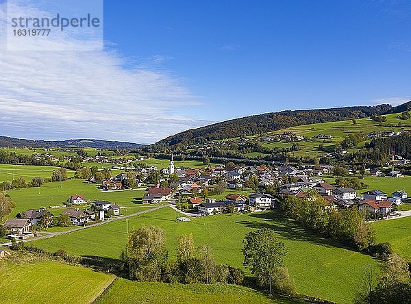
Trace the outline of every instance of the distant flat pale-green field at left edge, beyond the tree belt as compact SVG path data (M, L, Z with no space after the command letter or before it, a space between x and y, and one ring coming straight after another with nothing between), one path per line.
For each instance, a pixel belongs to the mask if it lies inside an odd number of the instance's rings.
M49 179L51 178L53 171L58 169L60 168L52 166L25 166L0 164L0 182L12 181L17 177L23 177L27 182L32 181L32 178L36 176ZM74 171L67 170L67 177L74 177Z

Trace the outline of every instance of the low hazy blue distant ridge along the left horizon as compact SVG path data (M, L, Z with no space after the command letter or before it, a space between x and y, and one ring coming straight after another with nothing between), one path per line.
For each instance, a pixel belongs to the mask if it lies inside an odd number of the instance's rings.
M0 147L32 147L32 148L95 148L95 149L137 149L144 144L133 142L112 142L109 140L73 139L73 140L26 140L0 136Z

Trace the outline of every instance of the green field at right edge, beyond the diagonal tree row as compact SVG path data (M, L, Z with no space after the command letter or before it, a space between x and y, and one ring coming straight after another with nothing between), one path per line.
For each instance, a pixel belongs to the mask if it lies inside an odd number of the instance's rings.
M399 255L411 262L411 216L396 220L379 220L373 224L378 242L390 242Z

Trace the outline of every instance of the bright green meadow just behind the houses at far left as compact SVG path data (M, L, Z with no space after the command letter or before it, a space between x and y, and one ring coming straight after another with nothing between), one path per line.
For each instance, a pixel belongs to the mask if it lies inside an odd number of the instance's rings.
M95 184L77 179L45 183L40 188L8 191L8 194L16 203L16 208L10 216L15 216L18 212L30 208L36 209L42 206L62 205L73 194L84 194L86 199L110 201L125 207L142 207L141 199L144 193L145 190L101 192ZM54 213L57 210L51 210L51 212Z

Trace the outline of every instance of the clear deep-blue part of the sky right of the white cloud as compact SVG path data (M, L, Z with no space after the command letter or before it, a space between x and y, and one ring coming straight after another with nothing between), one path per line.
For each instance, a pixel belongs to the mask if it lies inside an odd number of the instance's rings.
M411 99L408 1L105 1L105 38L157 57L223 120Z

